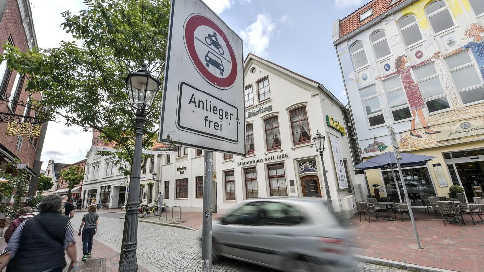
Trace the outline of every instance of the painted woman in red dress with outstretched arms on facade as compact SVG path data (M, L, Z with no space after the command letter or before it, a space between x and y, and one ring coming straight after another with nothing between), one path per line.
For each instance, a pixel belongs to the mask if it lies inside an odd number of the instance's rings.
M410 110L412 111L412 116L414 119L410 121L411 129L410 135L416 138L422 138L422 135L418 134L415 130L415 118L416 116L419 117L420 123L422 123L423 128L425 129L425 134L432 135L435 133L440 133L438 130L431 130L425 120L425 115L423 114L423 108L425 107L425 102L423 101L422 93L420 92L419 85L413 80L412 74L410 73L412 69L423 66L430 62L433 58L439 56L440 51L435 53L432 57L424 60L418 64L408 66L409 63L407 55L399 56L395 59L395 67L396 71L385 75L383 77L376 77L375 79L381 78L388 78L397 74L400 74L402 77L403 89L405 90L405 94L407 95L408 104L410 106Z

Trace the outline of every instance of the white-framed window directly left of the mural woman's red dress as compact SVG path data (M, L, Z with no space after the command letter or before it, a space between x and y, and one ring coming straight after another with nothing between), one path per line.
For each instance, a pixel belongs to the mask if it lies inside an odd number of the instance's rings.
M403 90L400 75L393 76L382 81L383 89L387 93L388 105L394 121L411 118L412 114L408 107L407 96Z

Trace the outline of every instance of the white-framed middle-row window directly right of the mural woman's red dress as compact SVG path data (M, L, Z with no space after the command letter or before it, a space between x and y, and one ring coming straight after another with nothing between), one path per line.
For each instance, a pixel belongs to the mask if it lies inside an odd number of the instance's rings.
M423 100L427 105L428 112L438 112L450 108L446 93L435 70L435 64L415 68L414 75L419 84Z

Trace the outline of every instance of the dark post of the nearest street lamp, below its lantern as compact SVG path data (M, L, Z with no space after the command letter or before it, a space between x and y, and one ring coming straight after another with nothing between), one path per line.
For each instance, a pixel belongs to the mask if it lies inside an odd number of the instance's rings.
M141 176L141 150L143 147L144 124L146 115L136 111L136 139L134 145L133 164L131 165L131 181L129 181L128 205L126 209L125 225L123 229L123 243L119 260L120 272L138 271L136 257L138 239L138 206L139 179Z

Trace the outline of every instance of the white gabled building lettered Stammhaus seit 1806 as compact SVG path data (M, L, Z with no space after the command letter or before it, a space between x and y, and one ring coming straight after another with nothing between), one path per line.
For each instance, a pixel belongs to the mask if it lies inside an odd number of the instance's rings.
M249 54L244 62L246 156L216 154L217 204L264 196L326 198L323 166L312 137L326 136L324 166L335 211L356 194L345 106L322 84ZM364 184L364 183L363 183Z

